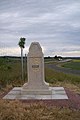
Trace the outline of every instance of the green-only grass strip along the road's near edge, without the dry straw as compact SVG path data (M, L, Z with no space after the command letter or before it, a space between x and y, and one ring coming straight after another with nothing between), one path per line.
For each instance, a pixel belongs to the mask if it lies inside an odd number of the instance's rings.
M45 69L45 74L46 81L49 83L54 84L56 82L65 82L80 87L80 76L65 74L48 68Z

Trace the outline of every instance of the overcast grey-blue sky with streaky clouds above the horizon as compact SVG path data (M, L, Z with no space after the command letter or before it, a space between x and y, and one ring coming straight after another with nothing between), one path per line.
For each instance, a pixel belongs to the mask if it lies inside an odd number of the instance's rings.
M0 55L39 42L44 56L80 57L80 0L0 0Z

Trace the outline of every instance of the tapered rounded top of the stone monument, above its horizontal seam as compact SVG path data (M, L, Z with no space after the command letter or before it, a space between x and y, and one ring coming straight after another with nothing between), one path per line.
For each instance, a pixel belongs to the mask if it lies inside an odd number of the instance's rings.
M29 48L29 56L41 57L43 55L39 42L32 42Z

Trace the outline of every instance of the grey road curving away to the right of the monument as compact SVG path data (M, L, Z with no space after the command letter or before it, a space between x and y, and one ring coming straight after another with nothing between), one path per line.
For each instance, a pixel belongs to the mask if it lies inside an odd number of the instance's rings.
M46 67L54 69L56 71L59 72L63 72L63 73L67 73L67 74L74 74L74 75L78 75L80 76L80 70L72 70L70 68L63 68L63 67L59 67L55 64L45 64Z

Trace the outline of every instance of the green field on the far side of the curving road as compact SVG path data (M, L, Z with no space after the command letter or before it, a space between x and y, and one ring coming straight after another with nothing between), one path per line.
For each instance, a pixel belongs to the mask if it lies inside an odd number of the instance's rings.
M71 62L67 62L62 64L62 67L74 69L74 70L80 70L80 60L73 60Z

